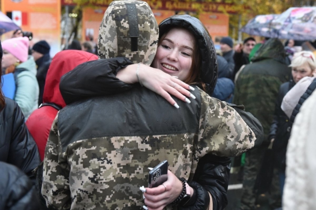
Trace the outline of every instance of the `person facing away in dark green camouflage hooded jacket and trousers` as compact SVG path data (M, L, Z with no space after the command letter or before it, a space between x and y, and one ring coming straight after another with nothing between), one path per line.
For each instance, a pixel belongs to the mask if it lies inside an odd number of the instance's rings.
M291 69L285 64L285 51L278 39L266 41L245 66L235 84L234 103L243 104L262 123L264 142L258 148L246 153L243 194L240 209L255 209L256 196L253 193L255 179L262 162L264 151L269 145L269 131L273 120L275 101L279 87L291 77ZM275 180L275 179L274 179ZM278 189L277 184L273 186ZM280 194L271 190L274 207L280 205ZM275 197L277 198L275 198Z

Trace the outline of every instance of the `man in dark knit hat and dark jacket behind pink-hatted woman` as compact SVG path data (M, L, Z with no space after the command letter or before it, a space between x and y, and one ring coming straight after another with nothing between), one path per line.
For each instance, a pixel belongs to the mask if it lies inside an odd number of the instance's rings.
M32 56L36 63L37 73L36 79L39 83L39 105L43 103L43 92L46 80L46 74L51 64L51 56L49 54L51 47L45 40L36 42L32 47Z

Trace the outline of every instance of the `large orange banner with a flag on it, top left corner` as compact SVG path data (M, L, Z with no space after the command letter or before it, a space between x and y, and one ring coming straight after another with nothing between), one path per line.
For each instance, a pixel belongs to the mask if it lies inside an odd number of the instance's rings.
M2 0L1 9L4 14L11 14L23 31L33 33L30 46L46 40L51 56L60 51L60 0ZM11 34L3 37L10 38Z

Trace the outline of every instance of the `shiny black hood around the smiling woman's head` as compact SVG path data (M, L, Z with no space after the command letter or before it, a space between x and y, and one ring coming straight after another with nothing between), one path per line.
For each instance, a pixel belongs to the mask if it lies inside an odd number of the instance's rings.
M202 22L190 15L173 15L159 24L159 39L170 27L181 27L189 30L197 39L201 54L201 80L206 91L212 95L217 81L217 58L214 43Z

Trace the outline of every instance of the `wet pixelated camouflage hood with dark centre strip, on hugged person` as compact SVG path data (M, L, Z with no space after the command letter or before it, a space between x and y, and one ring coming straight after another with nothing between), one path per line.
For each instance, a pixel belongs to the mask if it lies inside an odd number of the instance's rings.
M150 65L157 50L158 33L155 16L146 2L113 1L100 24L99 59L125 57L133 63Z

